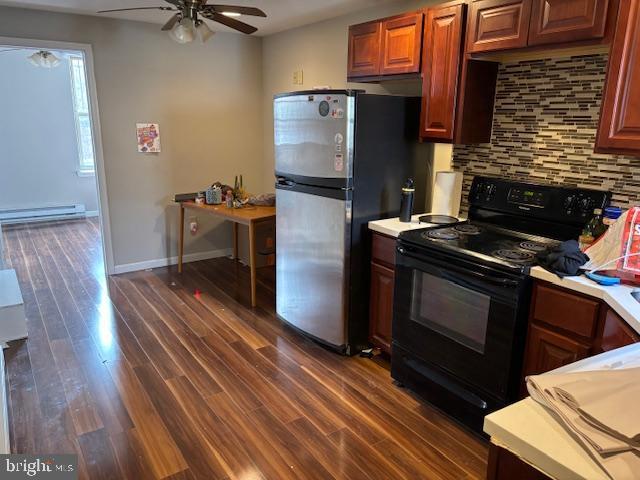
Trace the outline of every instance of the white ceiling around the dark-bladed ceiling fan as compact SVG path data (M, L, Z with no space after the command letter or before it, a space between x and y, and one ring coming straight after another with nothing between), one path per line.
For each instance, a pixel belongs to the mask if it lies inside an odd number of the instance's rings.
M267 18L243 16L240 20L258 28L254 35L269 35L393 0L209 0L209 3L261 8ZM0 0L0 5L97 15L98 10L166 5L163 0ZM171 12L141 11L101 14L112 18L163 24ZM232 31L209 22L214 30Z

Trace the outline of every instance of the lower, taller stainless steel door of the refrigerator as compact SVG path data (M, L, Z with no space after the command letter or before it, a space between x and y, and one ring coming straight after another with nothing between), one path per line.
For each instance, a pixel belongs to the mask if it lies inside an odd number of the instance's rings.
M333 347L347 343L351 200L276 190L276 311Z

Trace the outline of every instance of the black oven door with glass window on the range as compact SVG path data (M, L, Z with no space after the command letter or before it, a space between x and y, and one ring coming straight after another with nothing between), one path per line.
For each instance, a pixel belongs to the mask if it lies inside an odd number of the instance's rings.
M394 343L506 399L525 277L402 243L396 262Z

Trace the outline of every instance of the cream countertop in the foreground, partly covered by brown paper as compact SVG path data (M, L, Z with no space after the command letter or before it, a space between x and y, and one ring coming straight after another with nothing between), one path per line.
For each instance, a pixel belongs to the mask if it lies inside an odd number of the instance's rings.
M621 364L632 362L637 366L638 359L640 344L636 343L572 363L549 374L604 370L615 364L619 368ZM487 415L484 431L494 444L509 450L551 478L609 478L552 413L531 398Z

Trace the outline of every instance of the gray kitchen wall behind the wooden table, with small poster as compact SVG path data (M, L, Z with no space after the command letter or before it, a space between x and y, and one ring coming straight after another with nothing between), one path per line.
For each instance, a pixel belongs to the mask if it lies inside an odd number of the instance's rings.
M261 40L218 33L179 45L158 25L0 7L8 37L91 44L116 265L176 254L175 192L244 174L262 185ZM158 122L162 153L138 154L136 122ZM186 253L226 249L225 222L202 217Z

